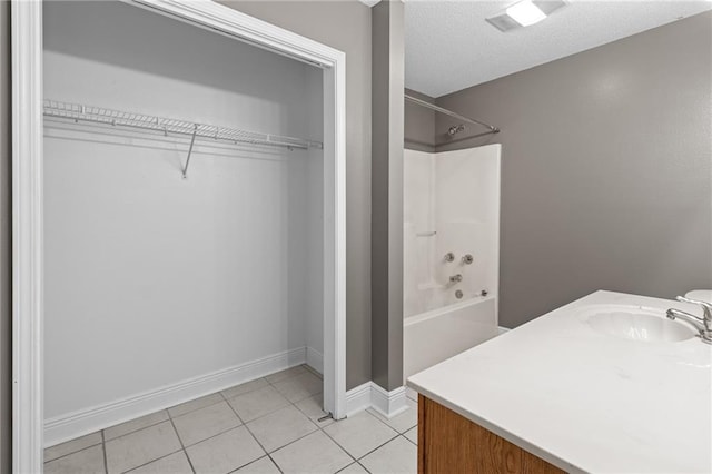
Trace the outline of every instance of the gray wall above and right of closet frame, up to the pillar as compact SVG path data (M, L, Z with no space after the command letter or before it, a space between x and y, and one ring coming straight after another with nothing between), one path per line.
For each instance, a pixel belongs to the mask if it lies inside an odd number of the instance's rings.
M370 379L370 9L356 0L222 1L346 53L346 386Z

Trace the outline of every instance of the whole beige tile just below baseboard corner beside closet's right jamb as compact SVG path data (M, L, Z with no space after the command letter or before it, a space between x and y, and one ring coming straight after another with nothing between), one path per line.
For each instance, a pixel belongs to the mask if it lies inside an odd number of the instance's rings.
M368 412L333 423L324 432L357 460L398 434Z

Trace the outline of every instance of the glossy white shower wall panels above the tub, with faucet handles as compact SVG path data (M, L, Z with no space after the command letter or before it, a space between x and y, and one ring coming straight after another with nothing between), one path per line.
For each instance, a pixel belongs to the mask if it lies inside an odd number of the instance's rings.
M500 145L405 151L405 317L497 294L500 155Z

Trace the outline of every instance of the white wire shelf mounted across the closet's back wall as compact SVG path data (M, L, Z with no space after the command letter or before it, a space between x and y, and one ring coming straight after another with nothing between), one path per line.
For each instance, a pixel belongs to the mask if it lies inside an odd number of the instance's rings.
M237 128L220 127L216 125L196 124L187 120L112 110L79 103L61 102L49 99L44 100L44 117L67 119L76 122L88 121L118 127L149 129L161 131L165 135L180 134L195 138L266 145L289 149L322 149L324 147L320 141L306 140L303 138L261 134L258 131L240 130Z

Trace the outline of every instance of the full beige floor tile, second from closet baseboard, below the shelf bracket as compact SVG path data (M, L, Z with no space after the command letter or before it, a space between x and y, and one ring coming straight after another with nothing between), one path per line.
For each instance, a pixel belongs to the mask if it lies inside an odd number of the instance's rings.
M174 418L174 425L184 446L190 446L241 424L243 422L227 402L216 403Z

